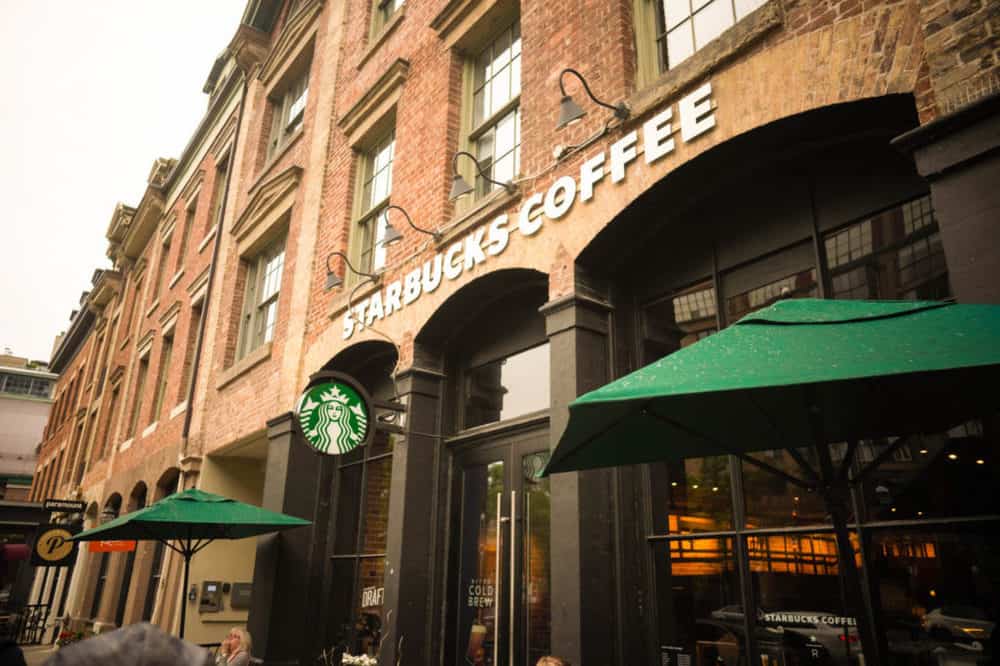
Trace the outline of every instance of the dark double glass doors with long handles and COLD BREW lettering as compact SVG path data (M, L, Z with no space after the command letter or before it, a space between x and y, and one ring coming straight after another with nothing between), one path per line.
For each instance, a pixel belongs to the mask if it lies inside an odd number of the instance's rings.
M454 664L523 666L549 652L547 427L456 450Z

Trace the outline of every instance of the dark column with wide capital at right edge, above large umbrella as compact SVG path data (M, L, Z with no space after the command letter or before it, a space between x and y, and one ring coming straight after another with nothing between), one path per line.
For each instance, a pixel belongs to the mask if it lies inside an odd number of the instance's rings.
M893 140L931 185L948 274L963 303L1000 303L1000 93Z

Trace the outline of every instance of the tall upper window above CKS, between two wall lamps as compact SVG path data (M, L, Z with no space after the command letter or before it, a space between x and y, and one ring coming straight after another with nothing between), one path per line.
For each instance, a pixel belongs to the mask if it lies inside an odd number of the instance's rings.
M521 27L515 20L472 63L471 152L483 172L507 183L521 168ZM476 175L476 196L498 185Z

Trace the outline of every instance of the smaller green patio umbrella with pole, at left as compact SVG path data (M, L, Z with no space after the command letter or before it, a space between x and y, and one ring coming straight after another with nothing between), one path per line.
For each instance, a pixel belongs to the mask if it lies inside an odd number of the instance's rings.
M186 590L191 557L215 539L245 539L310 524L308 520L191 488L80 532L72 540L159 541L184 558L183 589ZM181 638L184 638L186 611L187 604L181 604Z

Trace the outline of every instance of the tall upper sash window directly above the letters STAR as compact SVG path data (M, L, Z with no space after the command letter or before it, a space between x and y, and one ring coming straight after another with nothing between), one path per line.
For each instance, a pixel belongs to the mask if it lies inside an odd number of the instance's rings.
M391 130L361 156L361 205L357 222L355 256L360 270L370 273L385 268L386 206L392 193L392 162L396 132Z

